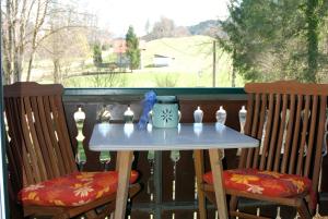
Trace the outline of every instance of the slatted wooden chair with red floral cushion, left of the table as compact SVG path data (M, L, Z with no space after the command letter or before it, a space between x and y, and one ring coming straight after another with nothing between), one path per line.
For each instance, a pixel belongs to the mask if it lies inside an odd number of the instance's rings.
M62 93L61 85L4 86L13 199L21 204L24 217L105 218L115 208L117 172L78 171ZM130 181L137 177L133 172ZM130 196L139 188L130 185Z

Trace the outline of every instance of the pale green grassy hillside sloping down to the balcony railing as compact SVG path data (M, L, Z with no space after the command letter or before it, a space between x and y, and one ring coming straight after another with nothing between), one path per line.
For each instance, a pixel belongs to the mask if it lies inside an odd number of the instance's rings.
M212 86L213 38L190 36L162 38L147 42L142 51L141 70L99 76L77 76L65 81L74 87L210 87ZM154 54L173 58L169 66L151 68ZM109 54L108 54L109 56ZM106 57L104 57L106 59ZM231 86L231 58L216 48L216 86ZM237 77L237 86L243 80Z

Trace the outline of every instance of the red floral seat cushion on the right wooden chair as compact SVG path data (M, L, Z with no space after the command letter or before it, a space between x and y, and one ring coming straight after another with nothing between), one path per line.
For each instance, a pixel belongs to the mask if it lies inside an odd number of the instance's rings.
M312 197L311 207L315 207L315 193L312 191L312 181L308 178L257 169L225 170L223 178L226 188L270 197L293 197L309 193ZM203 175L203 181L213 184L212 172L207 172Z

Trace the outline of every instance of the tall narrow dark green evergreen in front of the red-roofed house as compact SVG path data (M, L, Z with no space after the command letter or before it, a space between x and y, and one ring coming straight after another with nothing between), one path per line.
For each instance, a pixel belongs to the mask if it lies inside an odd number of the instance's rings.
M130 61L130 70L138 69L140 65L139 39L136 36L132 26L129 26L128 33L126 34L126 44L127 44L127 56Z

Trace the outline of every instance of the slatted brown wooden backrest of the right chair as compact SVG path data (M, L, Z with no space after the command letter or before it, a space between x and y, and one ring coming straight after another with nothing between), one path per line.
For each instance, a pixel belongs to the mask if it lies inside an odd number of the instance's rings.
M308 177L316 188L328 85L253 83L245 90L245 134L262 142L261 148L242 150L238 167Z

